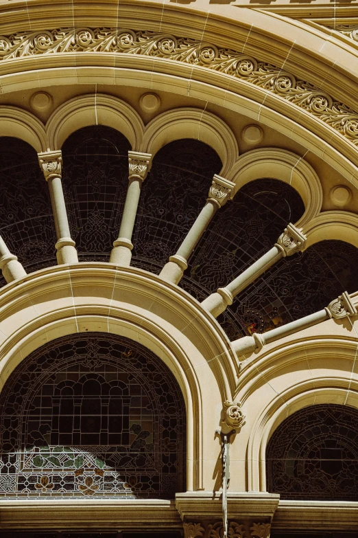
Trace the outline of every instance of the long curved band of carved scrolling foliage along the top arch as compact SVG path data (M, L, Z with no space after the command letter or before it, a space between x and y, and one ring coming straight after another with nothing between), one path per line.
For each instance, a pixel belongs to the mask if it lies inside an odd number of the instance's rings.
M343 31L357 36L354 27ZM218 48L197 39L121 28L57 28L0 36L2 60L71 52L141 54L214 69L296 104L358 145L357 112L309 82L296 79L288 71L231 49Z

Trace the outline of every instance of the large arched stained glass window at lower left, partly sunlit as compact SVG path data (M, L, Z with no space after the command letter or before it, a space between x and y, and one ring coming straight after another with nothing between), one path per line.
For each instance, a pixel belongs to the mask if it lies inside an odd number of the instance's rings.
M0 497L174 497L185 412L163 361L134 341L51 341L0 397Z

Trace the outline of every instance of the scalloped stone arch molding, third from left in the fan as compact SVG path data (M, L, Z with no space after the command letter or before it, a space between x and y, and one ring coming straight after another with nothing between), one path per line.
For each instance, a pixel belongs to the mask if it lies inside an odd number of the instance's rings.
M154 118L146 128L142 150L155 155L160 148L181 138L193 138L211 146L222 159L226 177L239 155L235 135L225 122L200 109L175 109Z

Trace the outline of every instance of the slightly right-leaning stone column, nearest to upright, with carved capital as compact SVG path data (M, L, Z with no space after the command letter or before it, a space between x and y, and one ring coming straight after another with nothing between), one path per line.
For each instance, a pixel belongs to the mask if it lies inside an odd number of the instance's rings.
M147 177L152 164L150 153L139 153L139 151L128 151L129 183L124 204L124 210L119 229L119 236L113 243L110 253L110 263L130 266L132 258L132 233L136 220L136 210L138 208L139 196L141 194L142 183Z

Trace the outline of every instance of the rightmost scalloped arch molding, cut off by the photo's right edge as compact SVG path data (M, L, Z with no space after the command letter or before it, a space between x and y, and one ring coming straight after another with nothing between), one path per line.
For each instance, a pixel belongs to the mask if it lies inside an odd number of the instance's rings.
M339 239L358 248L358 218L347 211L325 211L305 226L306 248L324 239Z

